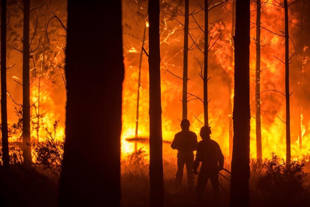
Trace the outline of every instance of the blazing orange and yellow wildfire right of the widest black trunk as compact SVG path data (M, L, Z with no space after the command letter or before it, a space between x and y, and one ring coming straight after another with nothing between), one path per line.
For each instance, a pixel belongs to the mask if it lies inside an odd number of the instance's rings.
M231 5L230 5L231 6ZM229 6L228 6L229 7ZM255 4L252 5L253 13L255 13ZM197 9L199 10L199 9ZM214 11L213 11L214 12ZM226 157L228 157L228 116L232 114L232 111L228 111L228 94L230 94L230 101L233 102L233 71L234 63L232 58L233 44L231 41L231 16L228 11L219 10L210 13L213 19L220 19L215 21L211 27L210 33L222 34L221 41L218 41L215 46L209 52L209 74L212 77L208 82L208 97L209 102L209 121L212 129L211 137L219 142L222 151ZM279 18L284 15L284 10L274 7L272 4L266 4L262 10L262 22L264 27L272 31L282 31L284 29L284 20ZM222 16L221 16L222 14ZM222 17L229 16L226 19ZM168 17L168 16L167 16ZM255 15L253 14L253 18ZM293 17L292 17L293 18ZM179 22L184 21L184 17L177 17ZM133 17L124 16L124 23L130 22ZM197 21L203 25L203 15L197 17ZM212 20L213 21L213 20ZM252 20L255 22L255 19ZM148 22L147 22L148 23ZM147 24L146 23L146 24ZM192 25L191 25L192 24ZM177 25L177 26L175 26ZM194 27L194 23L190 23ZM197 27L197 25L196 25ZM142 28L142 29L141 29ZM229 29L230 28L230 29ZM251 29L251 37L255 37L255 25L254 29ZM183 52L180 48L183 47L182 26L178 21L172 18L166 18L163 16L161 25L161 85L162 85L162 131L163 139L171 141L174 134L180 130L179 120L181 119L181 101L182 97L182 81L175 76L165 73L167 69L173 71L173 73L179 77L182 77L183 69ZM296 29L294 24L290 24L290 30ZM140 35L143 32L143 25L135 25L136 35ZM201 30L190 30L190 34L195 37L199 37ZM292 34L292 33L291 33ZM211 34L209 34L211 38ZM203 36L203 34L202 34ZM261 34L261 91L265 90L279 90L284 91L284 64L277 60L273 56L277 56L280 59L283 56L284 48L282 38L270 33L269 31L262 29ZM201 37L200 37L201 38ZM293 37L292 34L292 39ZM213 41L213 40L212 40ZM297 41L297 40L296 40ZM135 45L134 47L141 47L139 42L133 42L129 36L124 36L124 43ZM163 44L166 43L166 44ZM189 41L189 47L191 46ZM203 48L203 42L197 41L197 44ZM250 133L250 154L251 157L256 157L256 134L255 134L255 42L251 40L250 44L250 104L251 104L251 133ZM195 48L195 47L192 47ZM306 50L308 46L304 47ZM290 51L294 53L294 47L290 45ZM194 49L188 55L188 92L202 97L202 80L199 77L200 66L196 59L203 60L203 54L198 49ZM135 100L137 98L136 90L137 83L136 77L138 74L138 61L139 56L133 56L130 53L125 54L125 80L123 84L123 130L122 130L122 153L127 154L134 151L134 143L127 142L126 138L135 137L135 115L136 106ZM290 65L291 71L298 67L297 59L291 60L293 63ZM304 63L306 64L306 62ZM129 67L131 66L131 67ZM305 72L309 72L304 67ZM140 91L140 103L139 106L139 137L148 138L148 62L147 57L142 59L142 73L141 80L144 81L144 85L141 86ZM293 73L293 72L292 72ZM291 92L297 91L297 81L291 78ZM229 92L229 87L231 86ZM227 98L226 98L227 97ZM292 95L291 98L292 109L297 106L297 95ZM293 110L292 110L293 111ZM307 117L309 112L307 113ZM197 120L195 117L197 117ZM277 92L263 92L261 94L261 128L262 128L262 146L263 157L266 158L270 153L275 152L281 158L285 158L286 154L286 139L285 139L285 124L278 118L285 119L285 98ZM191 122L191 130L198 134L203 120L203 106L200 101L193 100L188 102L188 119ZM302 158L303 155L309 153L310 149L310 120L302 115L302 147L299 148L298 143L298 114L291 112L291 153L292 159ZM285 121L285 120L284 120ZM148 151L148 143L138 143L138 148L144 147ZM163 144L164 153L166 155L173 154L170 150L170 146Z

